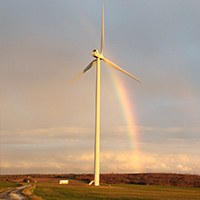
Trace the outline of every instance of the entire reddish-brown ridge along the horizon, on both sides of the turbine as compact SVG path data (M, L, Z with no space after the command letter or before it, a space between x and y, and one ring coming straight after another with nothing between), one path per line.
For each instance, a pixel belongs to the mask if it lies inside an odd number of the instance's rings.
M89 183L93 180L93 174L21 174L1 175L0 182L25 181L36 178L75 179ZM100 183L107 184L137 184L137 185L162 185L178 187L200 188L200 176L190 174L172 173L139 173L139 174L101 174Z

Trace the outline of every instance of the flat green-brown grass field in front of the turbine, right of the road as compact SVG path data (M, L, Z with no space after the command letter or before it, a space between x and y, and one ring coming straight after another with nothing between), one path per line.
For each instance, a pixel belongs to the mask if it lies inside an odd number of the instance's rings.
M163 186L56 186L37 185L34 194L44 200L194 200L200 199L200 189Z

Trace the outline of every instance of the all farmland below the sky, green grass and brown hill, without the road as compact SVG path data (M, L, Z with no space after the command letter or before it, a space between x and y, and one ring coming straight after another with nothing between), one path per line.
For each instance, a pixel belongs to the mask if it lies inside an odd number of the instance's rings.
M33 187L24 191L31 200L200 200L199 175L102 174L100 187L88 185L92 178L92 174L4 175L1 184L31 182ZM69 184L58 184L66 179Z

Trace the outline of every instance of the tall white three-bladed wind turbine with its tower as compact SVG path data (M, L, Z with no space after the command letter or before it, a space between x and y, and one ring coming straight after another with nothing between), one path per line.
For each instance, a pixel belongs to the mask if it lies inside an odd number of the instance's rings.
M92 56L95 59L78 75L76 76L71 82L69 82L66 86L70 83L75 81L79 78L82 74L87 72L90 68L92 68L95 64L97 64L96 69L96 124L95 124L95 149L94 149L94 185L99 186L99 150L100 150L100 60L103 60L107 65L113 67L124 74L130 76L131 78L135 79L136 81L140 82L137 78L111 62L110 60L106 59L103 56L103 49L104 49L104 5L102 4L102 33L101 33L101 53L98 52L97 49L92 51Z

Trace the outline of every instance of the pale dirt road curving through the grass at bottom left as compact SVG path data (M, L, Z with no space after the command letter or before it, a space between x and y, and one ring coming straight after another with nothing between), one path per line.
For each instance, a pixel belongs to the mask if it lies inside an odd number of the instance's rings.
M21 191L27 187L30 187L30 185L25 185L25 186L21 186L21 187L17 187L17 188L14 188L12 190L8 190L8 191L5 191L5 192L2 192L0 193L0 200L1 199L9 199L9 200L26 200L25 197L23 197L21 195Z

